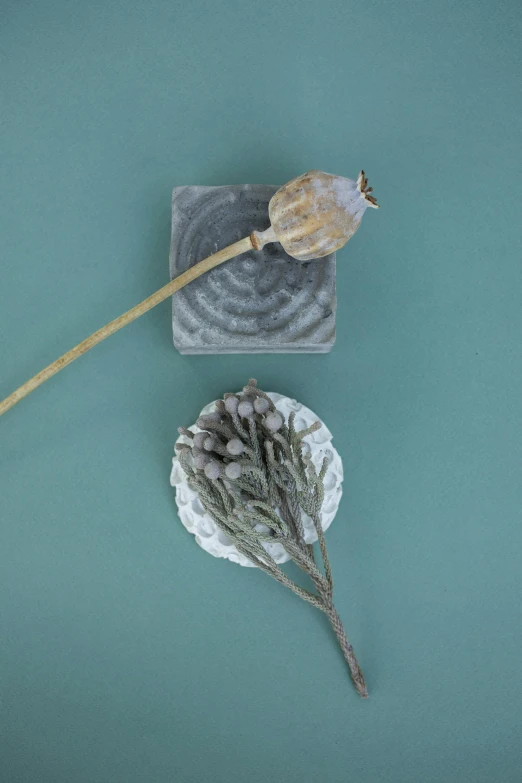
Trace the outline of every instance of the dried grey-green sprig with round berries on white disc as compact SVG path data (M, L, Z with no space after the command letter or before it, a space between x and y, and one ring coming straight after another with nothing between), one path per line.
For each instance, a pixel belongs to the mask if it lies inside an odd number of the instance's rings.
M177 443L180 464L205 510L236 548L278 582L326 614L358 693L368 691L363 673L333 605L333 582L320 511L327 461L317 473L303 454L303 439L321 426L295 431L294 414L283 420L254 379L241 394L225 394L214 413L197 421L201 432L179 428L190 444ZM301 512L314 523L323 561L307 544ZM277 565L264 544L281 544L310 577L315 592L300 587Z

